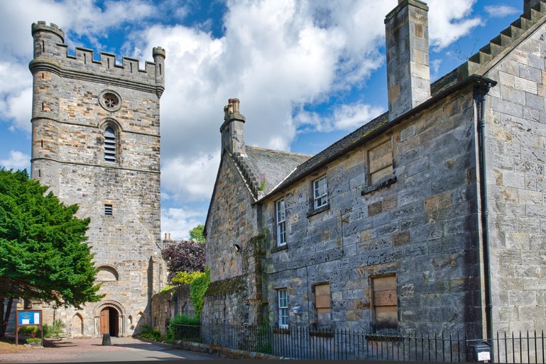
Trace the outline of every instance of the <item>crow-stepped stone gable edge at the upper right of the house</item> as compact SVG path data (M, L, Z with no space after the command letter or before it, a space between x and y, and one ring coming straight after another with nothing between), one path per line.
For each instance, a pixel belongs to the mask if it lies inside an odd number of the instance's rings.
M478 72L483 65L505 50L515 39L519 38L545 15L546 0L540 0L532 9L525 11L520 18L501 31L501 34L493 38L485 47L481 48L476 54L471 55L468 61L460 65L457 69L459 80Z

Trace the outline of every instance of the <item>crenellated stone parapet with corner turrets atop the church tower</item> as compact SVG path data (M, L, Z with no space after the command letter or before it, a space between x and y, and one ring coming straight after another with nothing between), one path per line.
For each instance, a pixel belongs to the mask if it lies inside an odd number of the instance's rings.
M153 92L158 97L165 89L165 50L153 48L154 62L139 61L131 57L121 57L100 52L97 57L94 50L75 48L75 55L70 55L68 45L64 43L65 33L57 25L49 26L44 21L32 25L34 39L34 59L29 68L33 74L45 71L62 77L88 79L92 82L118 85Z

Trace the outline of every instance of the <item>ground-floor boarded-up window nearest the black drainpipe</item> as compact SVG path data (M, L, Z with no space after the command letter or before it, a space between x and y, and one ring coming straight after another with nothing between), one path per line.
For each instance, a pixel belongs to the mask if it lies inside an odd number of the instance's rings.
M396 276L373 277L373 326L375 329L398 329Z

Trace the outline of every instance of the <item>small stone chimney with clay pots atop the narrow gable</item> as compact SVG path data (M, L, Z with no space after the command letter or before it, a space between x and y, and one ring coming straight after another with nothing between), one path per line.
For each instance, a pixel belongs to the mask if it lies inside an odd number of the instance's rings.
M246 155L244 149L245 117L239 113L239 99L229 99L224 106L224 123L220 126L222 149L229 153Z

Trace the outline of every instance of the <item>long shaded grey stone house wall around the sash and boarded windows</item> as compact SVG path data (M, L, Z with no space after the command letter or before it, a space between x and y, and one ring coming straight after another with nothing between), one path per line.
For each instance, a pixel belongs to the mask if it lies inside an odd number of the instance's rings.
M268 231L275 200L286 204L286 248L271 249L270 233L263 269L272 324L277 289L288 289L290 325L307 326L313 285L329 282L332 327L373 329L371 279L395 274L398 329L480 333L475 117L472 90L452 94L263 202ZM384 141L396 180L363 196L368 150ZM329 208L310 214L324 173Z

